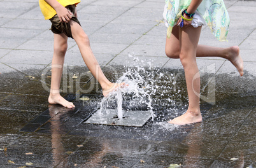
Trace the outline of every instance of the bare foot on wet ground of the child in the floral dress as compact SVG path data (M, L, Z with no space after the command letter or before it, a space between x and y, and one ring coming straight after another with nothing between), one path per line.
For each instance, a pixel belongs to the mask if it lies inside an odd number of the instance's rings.
M173 123L177 125L185 125L190 123L197 123L202 122L202 115L199 112L199 114L195 114L192 111L187 111L185 114L178 116L174 118L173 120L170 120L168 123Z

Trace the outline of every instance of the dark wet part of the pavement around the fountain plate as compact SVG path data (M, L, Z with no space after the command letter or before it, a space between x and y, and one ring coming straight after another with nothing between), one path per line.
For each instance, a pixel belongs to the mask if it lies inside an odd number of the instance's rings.
M125 71L116 68L118 73L105 69L108 78L115 80ZM82 71L80 67L76 70ZM41 76L8 75L3 74L6 80L0 80L6 86L6 90L0 88L0 148L7 149L0 151L1 167L21 167L30 162L34 167L256 166L255 81L249 74L245 78L202 74L203 122L174 126L166 121L187 108L183 70L145 69L139 73L144 79L139 85L152 93L155 116L143 127L85 123L103 98L90 75L76 79L67 75L62 81L62 89L67 86L68 92L63 95L75 103L75 109L48 107ZM44 75L48 86L49 74ZM129 94L123 99L123 109L148 110L134 103ZM110 106L117 108L115 101Z

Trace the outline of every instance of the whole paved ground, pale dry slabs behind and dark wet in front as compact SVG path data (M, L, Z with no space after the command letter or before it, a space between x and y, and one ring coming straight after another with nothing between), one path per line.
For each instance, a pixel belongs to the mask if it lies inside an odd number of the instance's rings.
M248 17L256 1L225 1L228 42L203 27L200 44L240 47L245 74L239 77L224 59L197 59L203 122L184 126L167 124L185 112L188 99L180 60L164 53L164 1L78 4L78 18L107 78L138 74L139 87L151 93L154 116L143 127L86 123L103 96L72 39L61 89L76 108L49 106L50 22L43 20L38 1L0 5L0 167L256 167L256 19ZM129 94L123 99L124 110L149 110Z

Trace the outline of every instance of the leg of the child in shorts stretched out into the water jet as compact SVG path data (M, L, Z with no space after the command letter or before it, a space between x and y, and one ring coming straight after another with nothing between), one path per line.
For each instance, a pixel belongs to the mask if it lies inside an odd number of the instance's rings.
M99 84L103 88L103 95L106 96L108 93L115 90L115 88L124 86L125 83L111 83L106 78L96 60L96 57L94 56L94 53L92 52L92 49L90 48L90 42L87 34L85 34L82 27L73 20L71 20L69 23L71 25L72 36L78 45L83 60L90 69L92 75L97 81L99 81Z

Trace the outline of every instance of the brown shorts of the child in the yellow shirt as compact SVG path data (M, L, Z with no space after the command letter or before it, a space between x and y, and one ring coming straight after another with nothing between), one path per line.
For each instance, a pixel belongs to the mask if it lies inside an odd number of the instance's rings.
M66 6L66 8L68 10L70 10L72 13L75 13L75 9L76 9L75 4ZM76 23L78 23L79 25L81 25L80 22L78 21L78 18L76 18L75 15L72 15L71 20L73 20ZM55 34L64 33L69 38L73 38L70 24L65 23L65 22L60 22L59 17L58 17L57 14L54 17L50 18L50 21L52 22L52 27L51 27L50 30L53 33L55 33Z

